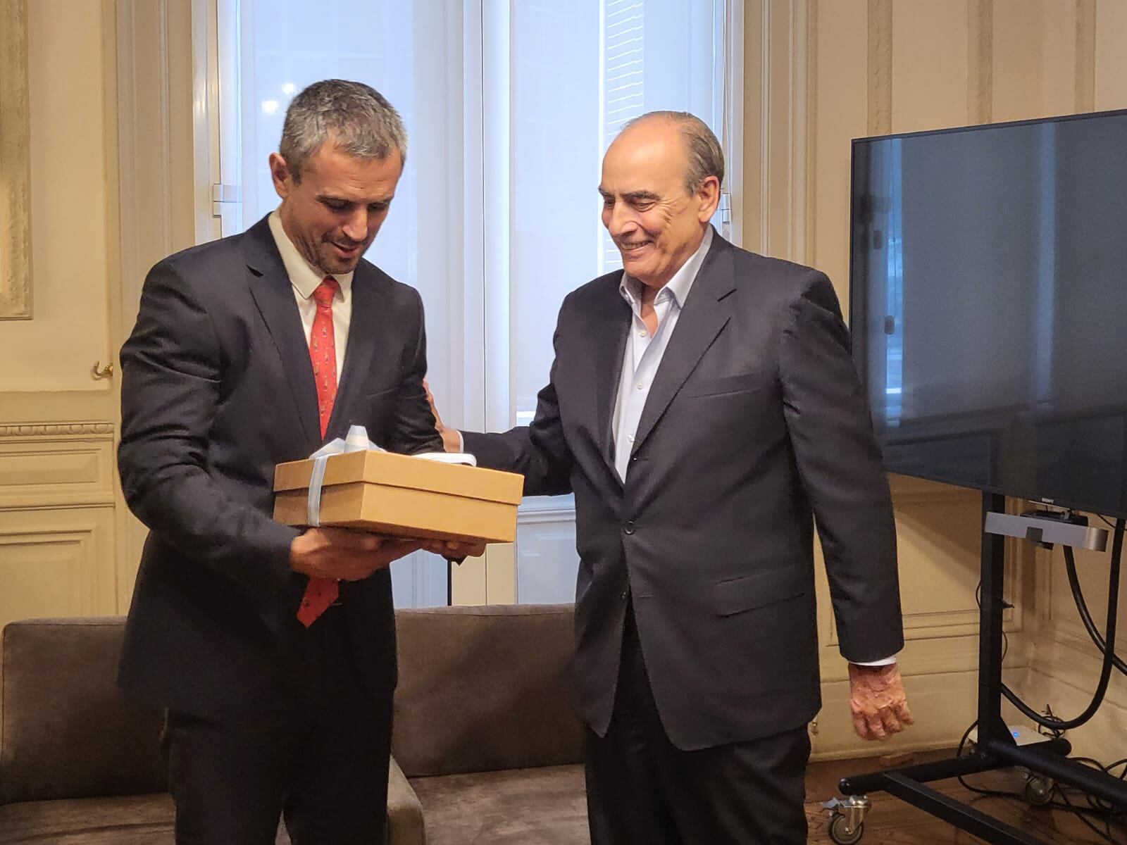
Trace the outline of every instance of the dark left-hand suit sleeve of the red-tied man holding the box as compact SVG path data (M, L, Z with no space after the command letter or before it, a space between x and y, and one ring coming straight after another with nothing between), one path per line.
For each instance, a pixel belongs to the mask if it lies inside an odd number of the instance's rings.
M207 471L222 352L206 310L167 261L145 279L121 359L117 463L130 509L192 560L251 588L284 585L300 532L231 498Z

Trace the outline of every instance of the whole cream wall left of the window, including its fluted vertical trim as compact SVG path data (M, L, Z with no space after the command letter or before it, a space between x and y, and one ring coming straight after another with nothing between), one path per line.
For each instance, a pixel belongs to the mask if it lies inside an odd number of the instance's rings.
M193 0L26 10L34 312L0 321L0 625L128 608L117 350L145 270L196 228Z

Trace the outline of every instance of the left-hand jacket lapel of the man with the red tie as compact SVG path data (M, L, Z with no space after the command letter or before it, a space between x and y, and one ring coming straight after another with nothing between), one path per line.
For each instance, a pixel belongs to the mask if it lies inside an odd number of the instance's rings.
M242 239L247 267L255 278L250 295L274 341L274 348L282 359L286 382L294 402L294 411L301 420L308 443L321 442L321 429L317 419L317 386L313 384L313 368L309 363L309 346L301 315L293 296L293 287L286 275L285 265L278 254L269 224L264 217L247 230Z

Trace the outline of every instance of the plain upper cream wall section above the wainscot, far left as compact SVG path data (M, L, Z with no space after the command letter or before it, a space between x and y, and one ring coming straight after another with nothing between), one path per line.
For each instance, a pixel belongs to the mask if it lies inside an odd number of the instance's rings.
M109 394L90 377L108 352L110 210L103 9L28 5L34 319L0 332L5 391ZM59 68L83 69L60 73ZM94 69L94 72L86 72ZM73 279L73 283L71 283ZM52 343L68 338L68 343Z

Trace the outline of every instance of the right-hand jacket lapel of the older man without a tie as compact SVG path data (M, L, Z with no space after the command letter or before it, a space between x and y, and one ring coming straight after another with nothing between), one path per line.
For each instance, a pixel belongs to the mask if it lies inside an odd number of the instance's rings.
M646 442L681 385L731 319L724 299L736 290L735 283L731 244L713 234L712 247L689 292L646 398L635 436L635 452Z

